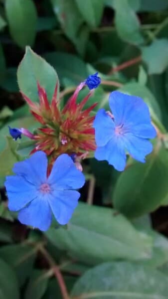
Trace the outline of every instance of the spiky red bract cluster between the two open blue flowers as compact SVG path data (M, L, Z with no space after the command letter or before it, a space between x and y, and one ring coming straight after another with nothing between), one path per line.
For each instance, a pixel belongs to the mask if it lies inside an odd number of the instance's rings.
M22 94L32 115L42 125L42 128L39 128L34 135L36 146L31 153L37 150L45 151L51 165L61 153L75 153L80 156L96 148L95 132L92 127L95 117L89 114L97 103L82 111L93 92L90 91L80 104L76 102L79 91L84 85L85 83L81 83L77 87L62 111L60 111L59 99L57 99L58 84L56 84L51 104L48 102L45 89L39 84L37 84L39 104L33 103Z

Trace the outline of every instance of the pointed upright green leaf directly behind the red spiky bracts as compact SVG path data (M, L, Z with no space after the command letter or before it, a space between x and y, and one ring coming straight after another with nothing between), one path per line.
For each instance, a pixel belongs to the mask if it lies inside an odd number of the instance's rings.
M37 81L45 88L48 99L51 101L58 76L51 65L35 54L30 47L26 47L25 55L18 66L17 80L21 92L33 102L39 100Z

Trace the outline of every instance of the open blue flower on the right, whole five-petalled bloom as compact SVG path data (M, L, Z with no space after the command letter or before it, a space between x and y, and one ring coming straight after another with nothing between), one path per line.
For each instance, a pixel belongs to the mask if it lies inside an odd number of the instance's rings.
M126 166L126 150L140 162L145 162L153 146L148 139L156 137L150 112L144 101L118 91L110 94L112 114L100 109L94 121L97 149L95 157L107 160L117 170Z

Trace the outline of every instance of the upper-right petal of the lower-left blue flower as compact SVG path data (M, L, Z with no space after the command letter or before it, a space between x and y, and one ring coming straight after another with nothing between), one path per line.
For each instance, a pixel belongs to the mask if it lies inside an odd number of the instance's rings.
M71 157L64 153L54 162L48 183L57 189L76 189L84 185L85 177Z

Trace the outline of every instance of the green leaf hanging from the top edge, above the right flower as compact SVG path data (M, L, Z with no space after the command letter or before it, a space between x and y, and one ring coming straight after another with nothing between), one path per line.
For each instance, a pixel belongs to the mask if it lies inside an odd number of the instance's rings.
M121 39L135 45L144 42L140 22L128 0L114 0L115 25Z

